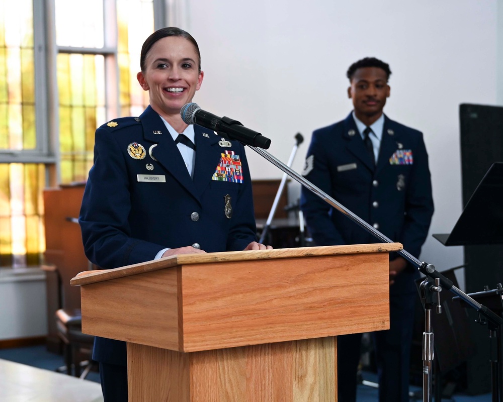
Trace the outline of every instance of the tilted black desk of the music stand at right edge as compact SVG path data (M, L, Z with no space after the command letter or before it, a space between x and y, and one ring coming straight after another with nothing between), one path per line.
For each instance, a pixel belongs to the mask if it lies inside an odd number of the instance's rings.
M484 175L450 234L434 234L445 246L503 244L503 162Z

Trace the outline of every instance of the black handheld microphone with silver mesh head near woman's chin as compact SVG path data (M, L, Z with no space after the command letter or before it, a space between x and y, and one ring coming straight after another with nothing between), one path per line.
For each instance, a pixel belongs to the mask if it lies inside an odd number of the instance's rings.
M250 130L238 121L228 117L212 115L202 110L199 105L195 103L184 105L180 110L180 116L186 124L198 124L199 126L216 131L225 138L237 140L245 145L264 149L268 149L271 145L271 140L264 137L261 133Z

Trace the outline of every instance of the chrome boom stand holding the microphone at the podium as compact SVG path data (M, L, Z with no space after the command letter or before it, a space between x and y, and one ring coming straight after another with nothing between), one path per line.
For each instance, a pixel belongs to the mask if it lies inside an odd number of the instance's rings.
M318 197L323 199L326 203L328 203L330 206L338 210L339 212L343 213L346 215L349 219L351 219L353 222L361 226L363 229L365 229L367 232L369 232L371 235L373 235L375 238L380 240L382 243L393 243L392 240L384 236L381 232L376 230L373 226L369 225L367 222L363 221L361 218L359 218L357 215L352 213L350 210L345 208L343 205L339 204L336 200L334 200L332 197L330 197L328 194L323 192L321 189L316 187L314 184L312 184L310 181L306 180L303 176L292 170L290 167L285 165L283 162L281 162L279 159L275 158L272 156L270 153L267 151L256 148L254 146L251 146L247 144L251 149L253 149L255 152L257 152L259 155L270 161L273 165L277 166L279 169L283 170L283 172L287 173L290 177L292 177L294 180L298 181L300 184L302 184L304 187L307 189L311 190L314 194L316 194ZM459 296L465 303L467 303L469 306L474 308L479 314L482 314L484 317L486 317L491 323L493 323L496 326L502 326L503 325L503 319L499 317L497 314L489 310L487 307L481 305L478 303L475 299L470 297L468 294L464 293L460 289L458 289L456 286L453 285L452 281L447 279L444 275L442 275L440 272L435 270L435 266L432 264L428 264L426 262L421 262L414 256L412 256L410 253L408 253L406 250L400 250L397 251L397 253L405 258L408 262L410 262L412 265L414 265L420 272L428 276L429 278L433 279L435 281L435 285L428 286L424 285L425 289L425 294L429 290L432 294L440 292L443 288L450 290L457 296ZM431 298L431 295L425 295L425 298ZM429 302L430 303L430 302ZM438 310L440 312L440 309ZM433 360L433 345L434 345L434 339L433 339L433 330L431 328L431 307L428 306L428 308L425 310L425 314L427 315L425 317L425 332L423 334L423 361L424 361L424 366L423 366L423 402L431 402L432 401L432 360Z

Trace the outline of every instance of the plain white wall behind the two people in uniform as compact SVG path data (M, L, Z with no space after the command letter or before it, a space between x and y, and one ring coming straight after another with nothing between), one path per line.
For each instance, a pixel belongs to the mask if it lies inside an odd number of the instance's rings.
M424 132L436 207L431 233L448 233L462 211L459 105L496 104L497 3L186 0L179 25L202 53L205 77L194 101L270 137L269 151L284 162L302 133L296 171L311 132L351 111L349 65L365 56L388 62L385 113ZM281 177L254 151L247 155L252 177ZM290 186L298 193L296 182ZM447 269L462 263L462 248L430 237L422 259Z

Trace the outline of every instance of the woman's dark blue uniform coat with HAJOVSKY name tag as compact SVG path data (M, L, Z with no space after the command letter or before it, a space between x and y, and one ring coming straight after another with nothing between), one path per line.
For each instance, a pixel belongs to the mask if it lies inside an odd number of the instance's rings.
M152 260L163 248L237 251L257 240L243 145L200 126L194 131L193 179L150 107L139 118L116 119L96 131L79 217L91 262L110 269ZM216 180L217 167L222 180ZM97 338L93 358L125 365L125 343Z

